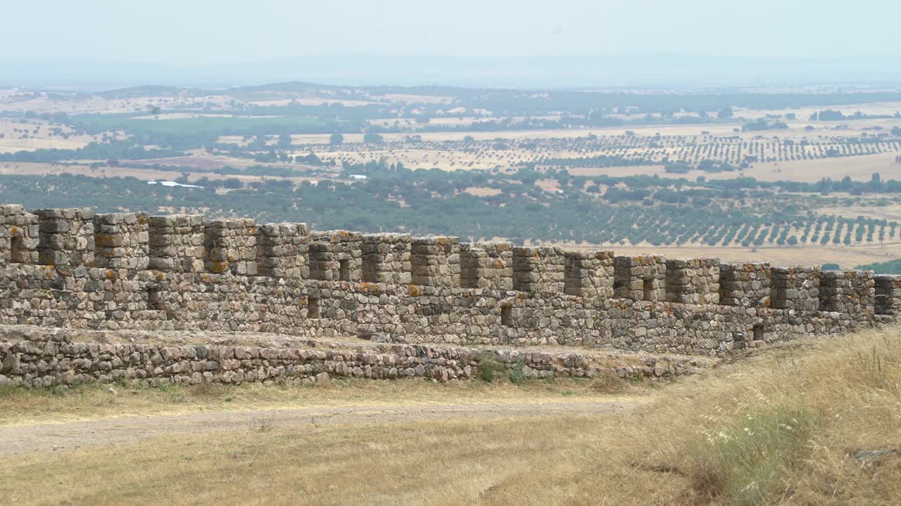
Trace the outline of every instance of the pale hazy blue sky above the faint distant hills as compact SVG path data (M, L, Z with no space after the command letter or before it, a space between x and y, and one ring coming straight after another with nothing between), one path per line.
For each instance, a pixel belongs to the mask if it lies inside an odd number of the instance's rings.
M2 7L0 59L177 65L334 53L901 52L896 0L27 0Z

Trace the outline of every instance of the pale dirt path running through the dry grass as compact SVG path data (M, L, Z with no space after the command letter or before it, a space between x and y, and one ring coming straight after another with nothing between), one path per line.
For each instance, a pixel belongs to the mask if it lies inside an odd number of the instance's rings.
M632 402L528 402L503 404L369 405L259 411L208 411L0 428L0 456L56 451L215 430L265 430L323 424L601 414L628 410Z

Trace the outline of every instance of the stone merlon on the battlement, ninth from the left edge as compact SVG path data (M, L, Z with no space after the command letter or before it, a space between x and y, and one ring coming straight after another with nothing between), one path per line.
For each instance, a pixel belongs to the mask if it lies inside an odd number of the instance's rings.
M460 286L460 238L414 237L410 242L411 284Z

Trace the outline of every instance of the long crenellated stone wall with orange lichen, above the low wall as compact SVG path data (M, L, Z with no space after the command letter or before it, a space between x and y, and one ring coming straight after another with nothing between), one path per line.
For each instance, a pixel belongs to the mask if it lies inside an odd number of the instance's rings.
M723 355L891 321L901 279L0 206L0 323Z

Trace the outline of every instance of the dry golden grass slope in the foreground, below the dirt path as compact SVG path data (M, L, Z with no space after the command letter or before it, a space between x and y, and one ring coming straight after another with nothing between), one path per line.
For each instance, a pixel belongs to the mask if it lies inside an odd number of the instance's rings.
M0 466L0 496L15 504L896 504L899 332L804 339L672 384L619 415L260 425L17 456ZM473 388L417 386L432 387ZM382 393L369 394L371 402ZM51 478L36 485L39 476Z

